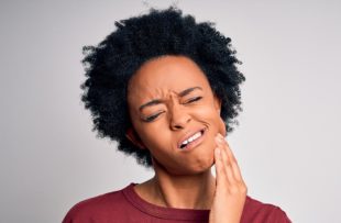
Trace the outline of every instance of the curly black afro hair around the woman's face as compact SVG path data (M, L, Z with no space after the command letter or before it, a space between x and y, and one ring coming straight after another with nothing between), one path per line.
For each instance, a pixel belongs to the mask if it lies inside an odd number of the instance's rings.
M116 31L98 46L85 46L86 81L81 100L92 115L99 137L118 142L118 149L133 155L138 163L152 166L147 149L132 144L125 133L131 127L127 102L130 78L145 62L165 56L182 55L193 59L205 73L213 93L221 100L221 118L227 131L238 124L241 108L240 83L245 78L231 46L213 23L196 23L176 8L151 9L147 14L116 22Z

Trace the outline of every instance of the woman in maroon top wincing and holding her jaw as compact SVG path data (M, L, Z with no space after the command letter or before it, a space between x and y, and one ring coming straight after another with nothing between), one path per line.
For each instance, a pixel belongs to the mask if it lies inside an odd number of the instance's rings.
M173 8L116 25L85 48L82 101L99 135L155 176L82 201L63 222L290 222L246 196L224 141L244 81L231 40Z

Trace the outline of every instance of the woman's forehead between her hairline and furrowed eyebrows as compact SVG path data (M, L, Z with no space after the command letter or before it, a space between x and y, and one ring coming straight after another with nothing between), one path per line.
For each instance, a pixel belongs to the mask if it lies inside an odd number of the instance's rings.
M184 56L163 56L142 65L129 83L131 98L154 98L187 88L210 89L199 66Z

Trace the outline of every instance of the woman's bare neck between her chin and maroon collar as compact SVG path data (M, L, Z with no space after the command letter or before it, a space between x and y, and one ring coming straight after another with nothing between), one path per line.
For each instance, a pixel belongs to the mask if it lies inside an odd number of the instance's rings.
M154 166L155 176L135 187L144 200L161 207L210 209L216 180L210 169L197 175L170 175Z

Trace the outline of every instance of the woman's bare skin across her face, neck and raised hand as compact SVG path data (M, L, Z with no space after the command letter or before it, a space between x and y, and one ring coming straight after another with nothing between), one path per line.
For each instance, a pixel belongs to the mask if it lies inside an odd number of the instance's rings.
M152 59L129 82L127 136L153 157L155 176L135 186L150 203L210 209L210 222L240 222L246 186L222 135L220 100L201 69L184 56ZM188 147L182 142L201 136ZM210 168L216 164L216 176Z

